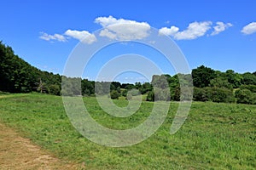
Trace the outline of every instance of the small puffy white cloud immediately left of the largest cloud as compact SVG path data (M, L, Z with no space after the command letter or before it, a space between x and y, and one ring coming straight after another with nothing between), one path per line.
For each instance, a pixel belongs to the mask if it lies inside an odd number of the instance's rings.
M69 37L73 37L75 39L78 39L80 42L84 43L92 43L96 42L96 37L94 34L90 34L89 31L77 31L77 30L67 30L65 32L65 35Z

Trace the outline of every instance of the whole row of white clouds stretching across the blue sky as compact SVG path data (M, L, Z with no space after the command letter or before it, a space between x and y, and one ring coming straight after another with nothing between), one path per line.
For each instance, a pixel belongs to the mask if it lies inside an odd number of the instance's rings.
M148 37L151 26L147 22L139 22L136 20L116 19L113 16L98 17L94 20L96 24L102 26L99 36L108 37L109 39L119 41L132 41L140 40ZM168 22L169 24L170 22ZM177 26L162 27L159 29L159 35L170 36L175 40L194 40L203 36L216 36L222 31L226 31L233 26L231 23L224 23L218 21L212 23L212 21L195 21L189 23L189 26L184 30L181 30ZM256 32L256 22L252 22L247 26L244 26L241 30L243 34L253 34ZM68 39L74 38L83 43L96 42L96 36L90 31L82 30L67 30L62 34L55 33L50 35L45 32L40 32L41 39L49 42L67 42Z

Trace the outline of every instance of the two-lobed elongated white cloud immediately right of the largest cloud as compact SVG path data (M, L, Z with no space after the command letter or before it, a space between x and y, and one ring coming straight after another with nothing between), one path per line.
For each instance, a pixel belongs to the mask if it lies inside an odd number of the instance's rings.
M184 31L178 31L179 29L176 26L171 26L171 28L161 28L159 34L166 34L177 40L192 40L204 36L211 29L211 26L211 21L192 22Z

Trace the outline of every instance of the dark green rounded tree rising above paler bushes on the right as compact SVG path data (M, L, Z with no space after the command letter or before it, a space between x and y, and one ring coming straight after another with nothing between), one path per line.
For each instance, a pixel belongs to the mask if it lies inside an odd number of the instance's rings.
M194 86L197 88L205 88L209 86L210 81L216 78L216 73L211 68L204 65L192 70Z

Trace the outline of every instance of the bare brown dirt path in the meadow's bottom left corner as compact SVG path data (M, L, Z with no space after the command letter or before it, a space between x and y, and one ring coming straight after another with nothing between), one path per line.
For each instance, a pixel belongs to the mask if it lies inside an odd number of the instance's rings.
M0 169L81 169L61 161L0 122Z

